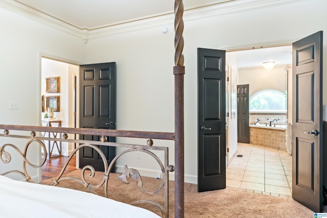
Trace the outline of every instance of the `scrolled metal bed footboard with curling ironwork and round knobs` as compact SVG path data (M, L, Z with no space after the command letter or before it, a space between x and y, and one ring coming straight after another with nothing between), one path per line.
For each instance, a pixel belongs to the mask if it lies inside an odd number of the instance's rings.
M68 160L65 162L64 166L62 167L60 173L57 175L57 177L54 178L52 183L50 185L58 185L61 181L64 180L73 180L79 184L81 184L85 189L89 190L92 193L95 193L98 195L95 189L97 188L104 188L104 197L108 198L108 188L109 188L109 178L110 178L110 172L112 167L114 166L115 162L122 157L123 155L130 153L130 152L144 152L148 155L150 155L152 158L154 158L155 162L158 164L160 171L161 171L161 183L159 186L154 190L154 191L148 191L143 185L142 182L142 176L139 174L139 172L134 169L134 168L129 168L127 165L124 167L124 172L122 174L118 174L118 179L120 179L123 183L129 184L131 182L131 179L133 179L136 183L136 186L144 193L148 195L156 195L159 193L161 190L164 190L165 193L165 200L164 200L164 205L160 205L159 203L148 200L148 199L141 199L132 202L131 204L133 205L138 205L138 204L151 204L156 206L160 212L162 217L169 217L169 172L174 171L174 166L173 165L168 165L168 148L167 147L156 147L153 146L153 141L152 139L147 140L147 145L137 145L137 144L123 144L123 143L116 143L116 142L107 142L107 137L106 136L101 136L101 141L90 141L90 140L80 140L80 139L68 139L68 135L66 133L62 134L61 138L50 138L50 137L38 137L36 136L36 132L34 131L35 129L39 131L49 131L47 127L33 127L33 126L8 126L8 125L0 125L0 129L3 128L4 126L6 127L11 127L11 128L6 128L4 131L4 134L0 134L0 137L11 137L11 138L23 138L27 139L27 143L23 144L24 146L24 152L22 152L19 148L22 147L21 145L14 145L11 143L6 143L1 145L0 144L0 159L3 163L7 164L12 161L12 155L6 151L7 148L12 148L14 149L15 152L19 154L19 157L23 163L23 168L22 170L11 170L4 172L0 175L8 175L8 174L19 174L24 179L28 182L34 183L34 181L31 179L27 165L33 167L33 168L39 168L42 167L43 164L45 163L46 157L47 157L47 151L46 147L44 144L44 140L50 140L50 141L62 141L62 142L73 142L79 144L79 146L69 155ZM23 130L25 131L26 129L33 129L31 131L30 136L24 136L24 135L11 135L10 131L8 129L15 129L15 130ZM69 128L52 128L51 131L58 131L58 132L66 132L68 131L69 133L71 132L71 129ZM80 132L84 131L83 129L73 129L74 132ZM28 149L30 148L32 142L37 142L37 144L40 145L41 150L43 151L43 155L40 154L40 159L41 162L40 164L33 164L28 158L27 158L27 152ZM106 157L104 153L101 151L101 149L98 146L111 146L111 147L120 147L120 148L126 148L123 152L116 154L116 156L111 160L111 162L107 162ZM101 157L103 164L104 164L104 172L96 172L95 168L92 167L91 165L86 165L82 168L80 178L76 177L71 177L71 176L65 176L64 171L66 167L68 166L69 161L73 158L73 156L80 150L83 149L84 147L89 147L91 149L94 149L95 152L99 154ZM164 161L163 163L161 160L153 153L154 151L162 151L164 152ZM17 161L17 160L15 160ZM95 175L97 174L103 174L102 175L102 180L96 184L90 182L91 178L94 178ZM85 176L88 175L88 176Z

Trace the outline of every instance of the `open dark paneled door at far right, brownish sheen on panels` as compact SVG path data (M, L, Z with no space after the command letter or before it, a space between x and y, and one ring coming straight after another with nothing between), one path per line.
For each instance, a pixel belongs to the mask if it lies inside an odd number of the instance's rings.
M322 212L322 31L293 43L293 199Z

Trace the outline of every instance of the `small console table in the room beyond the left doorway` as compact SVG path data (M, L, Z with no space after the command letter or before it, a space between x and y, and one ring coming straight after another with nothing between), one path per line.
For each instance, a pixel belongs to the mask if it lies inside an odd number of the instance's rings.
M41 121L42 127L61 127L61 120L56 119L45 119ZM58 135L59 134L59 135ZM42 132L42 137L49 137L49 138L58 138L57 136L61 136L61 133L58 132ZM54 157L60 157L62 156L62 146L61 141L48 141L48 159L54 158ZM44 140L43 140L44 142ZM45 144L45 142L44 142ZM53 155L53 149L56 148L58 150L58 154Z

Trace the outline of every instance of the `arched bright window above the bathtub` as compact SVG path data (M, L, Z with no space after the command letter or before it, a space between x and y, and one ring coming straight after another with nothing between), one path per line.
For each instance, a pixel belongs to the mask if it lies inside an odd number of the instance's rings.
M276 90L262 90L250 98L249 109L252 112L286 112L285 94Z

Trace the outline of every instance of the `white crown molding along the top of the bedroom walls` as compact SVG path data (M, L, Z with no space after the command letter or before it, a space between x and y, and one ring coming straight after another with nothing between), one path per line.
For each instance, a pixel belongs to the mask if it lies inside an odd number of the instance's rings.
M199 20L207 17L221 16L232 13L240 13L249 10L276 7L309 0L220 0L214 4L201 5L195 8L185 8L183 19L185 21ZM37 9L31 8L15 0L0 0L0 7L40 21L47 26L52 26L66 33L81 38L86 44L89 39L103 37L111 34L130 32L135 30L149 29L161 25L173 25L174 12L157 14L133 20L125 20L111 25L96 27L93 29L80 28L66 21L60 20Z

